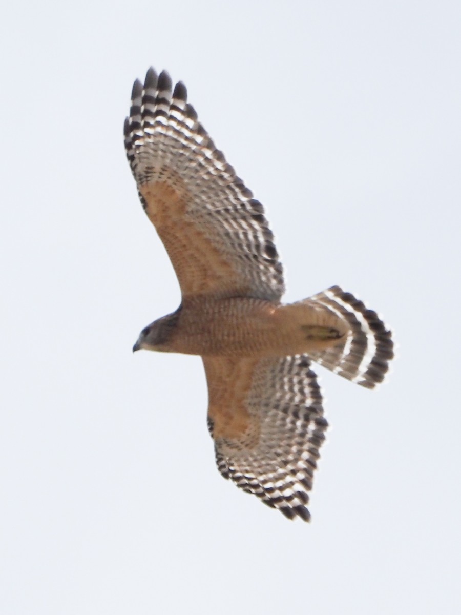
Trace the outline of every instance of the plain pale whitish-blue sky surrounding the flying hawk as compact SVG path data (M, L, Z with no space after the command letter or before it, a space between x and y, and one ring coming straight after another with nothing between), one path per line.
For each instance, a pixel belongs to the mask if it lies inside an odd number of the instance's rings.
M0 612L455 614L461 4L9 3L1 23ZM122 143L183 79L266 206L287 300L395 330L369 392L318 368L312 523L215 467L197 357L131 349L179 288Z

